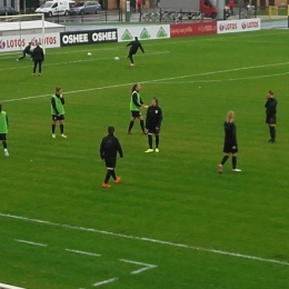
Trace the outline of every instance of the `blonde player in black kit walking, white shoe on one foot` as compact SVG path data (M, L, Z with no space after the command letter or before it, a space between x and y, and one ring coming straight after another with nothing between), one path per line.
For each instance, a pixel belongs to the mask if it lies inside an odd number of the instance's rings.
M222 166L232 155L232 171L241 171L237 169L237 152L238 152L238 142L237 142L237 127L235 124L235 113L229 111L227 114L227 120L223 123L225 128L225 142L223 142L223 152L225 156L221 160L221 163L218 166L218 171L222 173Z

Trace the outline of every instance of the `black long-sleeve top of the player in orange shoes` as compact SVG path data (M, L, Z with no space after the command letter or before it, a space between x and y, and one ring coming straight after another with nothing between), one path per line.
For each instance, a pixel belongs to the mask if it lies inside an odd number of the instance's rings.
M101 140L99 153L102 160L104 158L117 158L118 152L120 158L123 158L120 142L113 134L108 134Z

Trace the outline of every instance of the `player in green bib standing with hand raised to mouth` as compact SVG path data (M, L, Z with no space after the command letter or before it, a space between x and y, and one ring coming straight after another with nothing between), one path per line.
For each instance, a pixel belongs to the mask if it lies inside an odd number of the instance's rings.
M62 96L62 89L56 88L56 93L51 98L51 116L52 116L52 138L54 139L56 136L56 126L57 121L59 121L60 124L60 133L61 138L67 138L64 134L64 98Z

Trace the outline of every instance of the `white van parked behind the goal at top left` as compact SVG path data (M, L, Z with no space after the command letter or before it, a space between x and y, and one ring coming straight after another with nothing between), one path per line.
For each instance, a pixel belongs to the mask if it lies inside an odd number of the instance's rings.
M36 10L36 13L44 13L48 17L69 16L70 8L74 4L74 1L67 0L47 1Z

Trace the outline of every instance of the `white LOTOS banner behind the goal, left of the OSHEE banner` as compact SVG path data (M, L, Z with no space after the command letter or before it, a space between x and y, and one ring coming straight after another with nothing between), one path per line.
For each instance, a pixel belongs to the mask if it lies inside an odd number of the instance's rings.
M0 53L7 51L21 51L28 43L31 42L32 49L37 43L44 43L46 48L60 47L59 33L48 33L42 40L42 34L23 34L0 37Z

